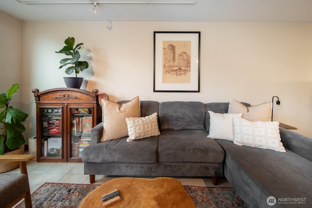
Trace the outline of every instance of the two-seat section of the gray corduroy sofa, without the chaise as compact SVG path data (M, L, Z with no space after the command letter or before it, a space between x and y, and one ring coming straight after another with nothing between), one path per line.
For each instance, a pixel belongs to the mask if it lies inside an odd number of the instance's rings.
M103 127L98 124L92 129L91 145L82 151L84 174L90 175L90 183L95 175L125 175L207 176L217 184L224 175L224 151L207 138L207 128L208 110L217 110L219 105L140 101L140 106L141 117L158 113L161 134L132 142L127 137L100 142Z

